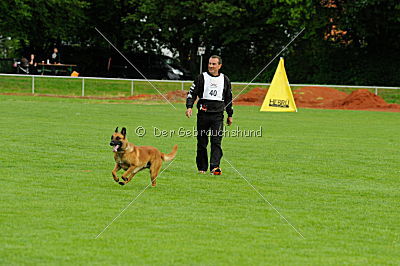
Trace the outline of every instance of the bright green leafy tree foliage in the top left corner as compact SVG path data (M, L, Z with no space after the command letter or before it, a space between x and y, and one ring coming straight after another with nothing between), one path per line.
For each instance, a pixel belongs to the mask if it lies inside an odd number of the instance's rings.
M80 0L2 1L0 30L19 40L21 54L45 58L53 46L78 42L87 7L88 3Z

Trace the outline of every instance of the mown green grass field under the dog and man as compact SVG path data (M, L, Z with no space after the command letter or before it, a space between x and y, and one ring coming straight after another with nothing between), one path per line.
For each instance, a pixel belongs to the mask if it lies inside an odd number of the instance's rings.
M183 104L115 103L0 95L0 264L400 263L399 113L236 106L233 129L262 137L224 138L214 177L194 137L154 135L192 129ZM116 126L179 145L156 188L147 170L113 181Z

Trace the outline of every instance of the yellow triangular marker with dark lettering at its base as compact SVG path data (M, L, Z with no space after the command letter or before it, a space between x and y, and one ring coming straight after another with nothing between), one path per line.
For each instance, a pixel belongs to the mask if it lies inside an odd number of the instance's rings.
M282 57L260 111L297 112Z

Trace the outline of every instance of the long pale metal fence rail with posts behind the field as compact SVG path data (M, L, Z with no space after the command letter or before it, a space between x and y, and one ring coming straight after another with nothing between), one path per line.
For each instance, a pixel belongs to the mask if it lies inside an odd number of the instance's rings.
M145 79L121 79L121 78L100 78L100 77L70 77L70 76L46 76L46 75L21 75L21 74L0 74L5 77L31 77L32 78L32 94L35 93L35 79L36 78L54 78L54 79L81 79L82 80L82 96L85 96L85 80L119 80L131 82L131 95L134 93L135 82L146 82ZM181 83L181 90L184 90L184 84L191 84L190 80L148 80L149 82L165 82L165 83ZM252 85L252 86L269 86L271 83L246 83L246 82L232 82L232 85ZM327 84L290 84L292 87L333 87L333 88L347 88L347 89L374 89L375 94L378 95L378 90L398 90L400 87L382 87L382 86L347 86L347 85L327 85Z

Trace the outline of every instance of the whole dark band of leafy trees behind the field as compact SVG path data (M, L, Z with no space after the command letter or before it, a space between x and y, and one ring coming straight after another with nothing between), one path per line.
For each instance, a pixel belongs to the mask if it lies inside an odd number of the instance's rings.
M97 27L123 52L168 49L194 75L205 46L232 80L250 81L305 27L282 54L292 83L398 85L399 12L396 0L14 0L0 3L0 31L21 53L61 44L64 58L93 66L112 52Z

